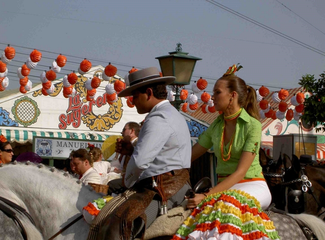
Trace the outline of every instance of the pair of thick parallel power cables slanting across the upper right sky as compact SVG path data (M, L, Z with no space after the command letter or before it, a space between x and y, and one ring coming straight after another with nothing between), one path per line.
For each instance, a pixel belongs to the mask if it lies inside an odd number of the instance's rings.
M287 39L287 40L289 40L289 41L291 41L291 42L294 42L294 43L296 43L296 44L298 44L298 45L300 45L300 46L303 46L304 48L307 48L307 49L309 49L309 50L311 50L311 51L313 51L313 52L316 52L316 53L318 53L318 54L320 54L320 55L322 55L322 56L325 56L325 52L323 52L323 51L321 51L321 50L319 50L319 49L316 49L316 48L314 48L314 47L311 47L311 46L309 46L308 44L305 44L305 43L303 43L303 42L300 42L300 41L297 40L297 39L291 38L291 37L285 35L285 34L282 33L282 32L279 32L279 31L277 31L277 30L275 30L275 29L273 29L273 28L271 28L271 27L269 27L269 26L266 26L266 25L264 25L264 24L262 24L262 23L260 23L260 22L257 22L257 21L255 21L255 20L253 20L253 19L251 19L251 18L249 18L249 17L247 17L247 16L245 16L245 15L239 13L239 12L236 12L235 10L232 10L232 9L230 9L230 8L228 8L228 7L225 7L225 6L223 6L222 4L219 4L218 2L216 2L216 1L214 1L214 0L205 0L205 1L208 2L208 3L210 3L210 4L213 4L213 5L217 6L218 8L221 8L221 9L227 11L227 12L230 12L230 13L232 13L232 14L234 14L234 15L236 15L236 16L242 18L242 19L245 19L246 21L249 21L249 22L251 22L251 23L253 23L253 24L255 24L255 25L259 26L259 27L262 27L262 28L264 28L264 29L266 29L266 30L268 30L268 31L271 31L271 32L275 33L276 35L278 35L278 36L280 36L280 37L282 37L282 38L285 38L285 39ZM324 54L323 54L323 53L324 53Z

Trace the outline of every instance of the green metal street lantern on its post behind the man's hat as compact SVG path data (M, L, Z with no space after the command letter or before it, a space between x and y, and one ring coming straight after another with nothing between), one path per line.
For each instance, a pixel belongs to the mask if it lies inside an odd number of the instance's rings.
M175 100L171 104L179 111L180 105L185 102L180 99L180 89L189 85L194 71L195 64L202 58L189 56L187 52L182 52L181 44L178 43L175 52L169 55L156 57L159 61L161 73L164 77L173 76L176 80L171 84L175 90Z

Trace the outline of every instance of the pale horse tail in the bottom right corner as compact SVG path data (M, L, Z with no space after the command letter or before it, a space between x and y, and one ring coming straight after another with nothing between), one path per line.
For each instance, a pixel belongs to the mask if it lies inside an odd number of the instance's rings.
M310 214L288 214L306 224L318 239L325 239L325 222Z

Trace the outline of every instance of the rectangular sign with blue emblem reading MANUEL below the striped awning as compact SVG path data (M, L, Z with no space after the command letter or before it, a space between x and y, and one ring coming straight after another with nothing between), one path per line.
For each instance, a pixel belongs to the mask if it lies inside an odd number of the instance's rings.
M33 152L42 158L67 159L71 151L87 148L88 143L102 149L101 141L85 141L70 139L53 139L35 136L33 138Z

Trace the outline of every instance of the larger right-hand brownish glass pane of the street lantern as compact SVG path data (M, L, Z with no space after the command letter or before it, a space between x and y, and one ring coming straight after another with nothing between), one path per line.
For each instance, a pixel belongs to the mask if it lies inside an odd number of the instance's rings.
M175 83L185 85L189 84L196 60L186 58L175 58L174 63L176 77Z

